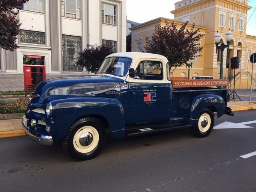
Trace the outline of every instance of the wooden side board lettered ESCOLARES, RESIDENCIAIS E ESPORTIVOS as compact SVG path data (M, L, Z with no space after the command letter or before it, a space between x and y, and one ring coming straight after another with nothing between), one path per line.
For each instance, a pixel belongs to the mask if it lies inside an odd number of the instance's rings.
M228 86L228 79L171 80L173 88Z

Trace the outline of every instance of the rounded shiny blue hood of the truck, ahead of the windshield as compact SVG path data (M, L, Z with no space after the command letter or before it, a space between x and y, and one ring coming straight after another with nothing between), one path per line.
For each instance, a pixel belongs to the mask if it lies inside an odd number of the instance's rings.
M72 96L118 98L119 94L120 83L114 76L88 75L53 78L40 82L32 94L32 99L34 102L44 102L45 99L54 100L56 95L64 98Z

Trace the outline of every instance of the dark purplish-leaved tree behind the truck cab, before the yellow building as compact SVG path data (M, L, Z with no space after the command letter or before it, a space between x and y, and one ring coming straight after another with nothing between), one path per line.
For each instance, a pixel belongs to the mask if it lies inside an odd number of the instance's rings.
M165 26L156 25L152 40L146 38L145 52L155 53L165 56L169 61L169 67L177 68L186 61L192 59L200 53L203 47L196 46L204 34L200 34L200 28L195 30L195 24L191 29L186 29L188 22L182 24L180 29L172 22L170 25L166 21Z

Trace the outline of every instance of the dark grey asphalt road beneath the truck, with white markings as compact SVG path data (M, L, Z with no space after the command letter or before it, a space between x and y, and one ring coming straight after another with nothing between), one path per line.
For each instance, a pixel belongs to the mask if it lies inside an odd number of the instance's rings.
M255 192L256 110L215 118L215 126L207 138L187 129L109 138L85 162L59 143L2 138L0 192Z

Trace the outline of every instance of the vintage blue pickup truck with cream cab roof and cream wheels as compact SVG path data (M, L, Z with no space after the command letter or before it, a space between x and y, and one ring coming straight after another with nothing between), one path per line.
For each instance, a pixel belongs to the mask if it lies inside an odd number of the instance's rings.
M175 128L206 137L227 107L228 80L170 80L168 60L148 53L107 56L95 75L48 79L30 95L22 120L35 142L62 141L77 161L97 156L106 141ZM194 86L193 86L194 84ZM220 86L222 85L222 86Z

